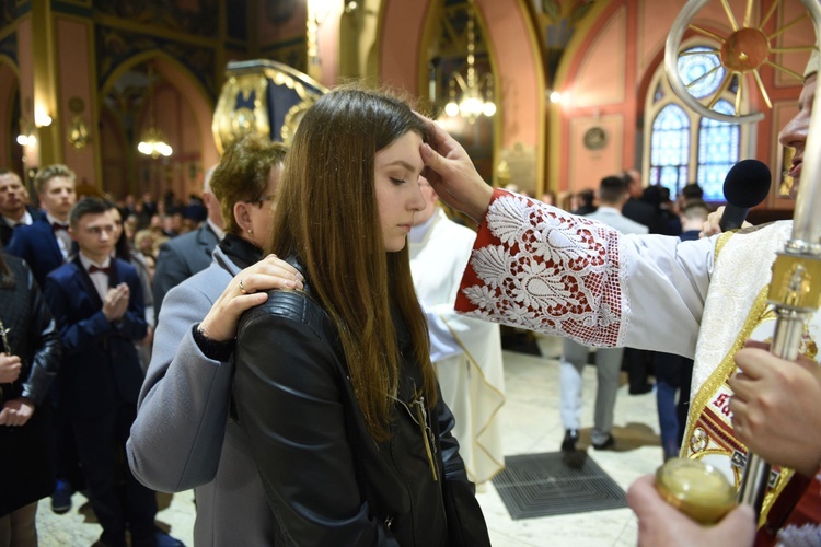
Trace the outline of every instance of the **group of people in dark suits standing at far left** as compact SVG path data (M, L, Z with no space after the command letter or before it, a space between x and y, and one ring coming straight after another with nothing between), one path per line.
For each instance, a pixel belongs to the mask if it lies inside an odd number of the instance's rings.
M127 211L76 188L71 168L45 166L36 208L20 176L0 171L0 434L3 492L14 492L2 497L0 545L37 545L37 500L50 493L61 514L82 491L100 545L180 546L120 455L150 352L153 249L134 248Z

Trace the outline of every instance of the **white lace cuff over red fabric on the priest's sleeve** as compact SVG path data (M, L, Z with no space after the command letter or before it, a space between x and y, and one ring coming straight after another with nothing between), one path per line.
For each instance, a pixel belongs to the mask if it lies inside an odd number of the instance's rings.
M618 345L628 310L620 233L522 196L494 197L458 309L587 345Z

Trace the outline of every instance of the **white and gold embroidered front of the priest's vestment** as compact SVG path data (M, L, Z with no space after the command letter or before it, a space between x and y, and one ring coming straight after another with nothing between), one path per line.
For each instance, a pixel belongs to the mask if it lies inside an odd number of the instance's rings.
M736 237L729 233L716 245L716 267L698 335L682 456L714 465L735 480L737 488L748 451L732 431L732 392L727 380L736 372L736 352L748 339L772 340L776 317L767 304L770 265L775 252L784 247L790 226L791 223L779 222ZM770 255L771 260L761 260ZM760 263L766 268L756 268ZM805 342L803 352L814 353L809 331L805 331ZM712 364L716 362L717 365ZM773 467L760 522L764 522L791 475L791 469Z

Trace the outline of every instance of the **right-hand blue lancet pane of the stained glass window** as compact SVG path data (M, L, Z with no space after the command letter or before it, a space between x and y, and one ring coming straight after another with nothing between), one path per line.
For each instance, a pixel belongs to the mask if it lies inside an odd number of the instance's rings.
M720 100L714 107L721 114L735 114L729 101ZM727 124L702 118L698 129L698 184L704 188L704 199L724 199L724 179L739 160L741 129L738 124Z

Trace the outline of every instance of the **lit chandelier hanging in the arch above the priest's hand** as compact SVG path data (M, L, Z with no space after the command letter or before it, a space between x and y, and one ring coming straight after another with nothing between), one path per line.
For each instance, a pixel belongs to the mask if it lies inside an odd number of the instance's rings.
M448 104L444 114L450 117L461 115L469 124L474 124L482 116L496 114L494 103L493 74L486 72L481 78L476 75L476 27L473 0L467 9L467 70L463 77L453 72L448 82ZM462 93L458 97L456 89Z

